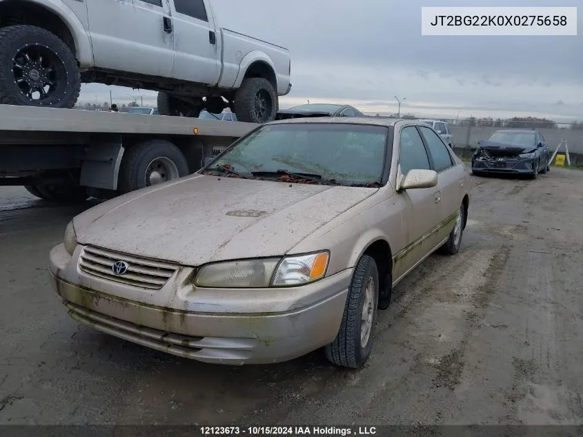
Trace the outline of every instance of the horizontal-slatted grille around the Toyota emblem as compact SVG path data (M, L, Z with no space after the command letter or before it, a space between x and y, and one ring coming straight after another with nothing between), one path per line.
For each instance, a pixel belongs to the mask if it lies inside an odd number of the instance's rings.
M128 270L123 275L113 273L113 264L123 261ZM79 269L88 275L146 289L161 289L178 269L176 264L150 260L127 253L118 253L95 246L84 246Z

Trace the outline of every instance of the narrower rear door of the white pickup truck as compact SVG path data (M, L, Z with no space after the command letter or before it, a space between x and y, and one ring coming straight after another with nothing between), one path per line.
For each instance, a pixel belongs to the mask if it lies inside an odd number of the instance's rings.
M204 0L174 0L175 61L172 77L214 85L221 72L221 35Z

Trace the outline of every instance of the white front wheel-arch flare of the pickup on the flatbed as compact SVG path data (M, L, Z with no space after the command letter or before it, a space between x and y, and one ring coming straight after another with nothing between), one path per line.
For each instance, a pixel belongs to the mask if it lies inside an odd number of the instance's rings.
M77 17L75 12L73 12L61 0L26 0L26 2L41 6L61 18L71 32L73 41L75 41L75 55L77 61L79 61L81 69L93 66L94 62L91 41L83 23L81 23L81 20L79 20L79 17ZM84 1L82 2L84 3Z

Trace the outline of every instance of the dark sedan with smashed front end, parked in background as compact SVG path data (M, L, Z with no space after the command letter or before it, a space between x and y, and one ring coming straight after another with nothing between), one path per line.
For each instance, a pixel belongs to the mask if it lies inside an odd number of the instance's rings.
M472 157L472 173L522 174L536 179L551 170L549 145L536 130L497 130L477 143Z

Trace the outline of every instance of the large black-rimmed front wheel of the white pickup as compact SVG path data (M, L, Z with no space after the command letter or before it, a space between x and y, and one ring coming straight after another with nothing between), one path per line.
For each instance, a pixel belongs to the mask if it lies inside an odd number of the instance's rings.
M0 30L0 104L72 108L81 76L75 55L37 26Z

